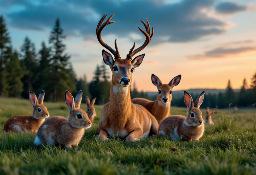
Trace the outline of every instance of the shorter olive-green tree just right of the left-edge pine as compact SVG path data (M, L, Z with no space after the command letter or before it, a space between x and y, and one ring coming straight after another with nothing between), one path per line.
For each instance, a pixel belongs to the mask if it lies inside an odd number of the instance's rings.
M6 61L4 71L6 74L6 83L8 84L6 89L6 96L20 98L23 86L21 78L23 77L24 72L20 66L18 52L12 52L11 48L9 48L7 52L8 59Z

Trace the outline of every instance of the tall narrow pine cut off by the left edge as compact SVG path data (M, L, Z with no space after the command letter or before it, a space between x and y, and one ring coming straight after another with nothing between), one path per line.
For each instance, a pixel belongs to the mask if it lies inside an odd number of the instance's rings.
M0 16L0 94L1 97L4 97L3 89L5 88L4 83L4 67L5 67L5 53L10 47L11 41L9 34L7 32L6 25L4 23L4 18Z

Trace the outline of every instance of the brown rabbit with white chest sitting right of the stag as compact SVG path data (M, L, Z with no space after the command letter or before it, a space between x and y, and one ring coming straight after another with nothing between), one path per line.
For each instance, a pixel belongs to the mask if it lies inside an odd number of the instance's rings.
M171 115L165 118L159 125L158 136L170 136L173 140L199 141L204 133L204 120L199 107L204 100L205 91L197 98L195 104L188 92L184 92L184 101L188 107L187 117L183 115Z

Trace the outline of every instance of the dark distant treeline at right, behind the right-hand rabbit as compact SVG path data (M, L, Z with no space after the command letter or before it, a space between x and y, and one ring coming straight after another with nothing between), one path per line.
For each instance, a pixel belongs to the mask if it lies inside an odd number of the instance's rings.
M190 94L194 100L199 94ZM234 92L230 80L224 93L219 94L206 94L204 95L204 102L201 108L228 108L229 104L233 107L247 107L256 103L256 73L251 78L250 86L247 84L246 79L243 80L239 92ZM173 98L172 106L185 107L184 98Z

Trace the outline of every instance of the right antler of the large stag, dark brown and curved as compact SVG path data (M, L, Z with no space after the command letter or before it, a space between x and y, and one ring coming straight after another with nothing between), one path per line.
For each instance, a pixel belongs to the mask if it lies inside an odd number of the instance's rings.
M145 24L145 22L141 20L141 22L143 23L143 25L146 28L146 32L139 27L139 30L146 36L146 40L142 44L142 46L140 46L139 48L135 49L134 51L133 51L133 49L135 47L135 42L133 41L133 46L132 46L131 50L129 51L129 53L126 56L126 59L128 59L128 60L132 60L133 55L135 55L136 53L138 53L141 50L143 50L149 44L152 36L154 35L154 28L152 27L152 33L150 35L150 26L149 26L149 22L148 22L147 18L146 18L146 21L147 21L147 24Z

